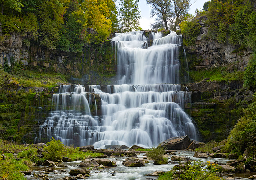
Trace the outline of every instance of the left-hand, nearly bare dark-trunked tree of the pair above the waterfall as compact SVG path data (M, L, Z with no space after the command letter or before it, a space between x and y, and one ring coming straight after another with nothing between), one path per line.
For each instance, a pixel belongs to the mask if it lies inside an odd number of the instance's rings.
M155 25L159 25L159 24L162 25L161 21L163 20L165 29L168 29L167 22L172 17L172 12L171 12L172 0L147 0L146 2L147 4L149 4L151 8L153 8L150 13L151 17L156 15L158 18L158 21Z

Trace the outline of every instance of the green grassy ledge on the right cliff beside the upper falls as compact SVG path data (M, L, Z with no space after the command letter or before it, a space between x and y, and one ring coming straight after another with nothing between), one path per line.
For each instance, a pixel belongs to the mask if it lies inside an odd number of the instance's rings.
M209 70L194 70L189 72L189 76L194 82L200 82L205 78L207 81L230 81L243 80L244 71L227 72L226 68L213 68Z

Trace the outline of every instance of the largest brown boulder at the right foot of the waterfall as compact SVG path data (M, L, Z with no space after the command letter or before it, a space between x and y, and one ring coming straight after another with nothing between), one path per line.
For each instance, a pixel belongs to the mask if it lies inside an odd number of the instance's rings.
M168 150L186 149L190 144L188 136L179 136L161 142L158 147L167 148Z

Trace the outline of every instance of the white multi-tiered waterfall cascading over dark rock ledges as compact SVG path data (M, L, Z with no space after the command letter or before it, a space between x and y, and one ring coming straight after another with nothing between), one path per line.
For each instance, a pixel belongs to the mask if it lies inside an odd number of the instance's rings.
M134 144L151 147L168 138L189 135L197 139L196 128L183 111L190 93L181 91L178 60L182 37L171 32L151 33L151 46L144 31L116 33L112 39L118 62L119 85L61 86L53 95L51 117L40 126L40 136L53 136L66 145ZM150 47L148 47L150 46ZM88 95L87 95L88 94ZM101 98L97 116L95 94ZM89 106L95 102L96 116Z

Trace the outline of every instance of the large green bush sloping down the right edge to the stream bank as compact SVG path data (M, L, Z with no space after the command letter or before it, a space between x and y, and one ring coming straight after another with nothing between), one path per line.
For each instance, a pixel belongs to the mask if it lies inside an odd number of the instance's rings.
M236 152L239 155L248 149L250 156L256 156L256 94L253 97L253 102L244 109L244 116L229 134L225 146L227 152Z

